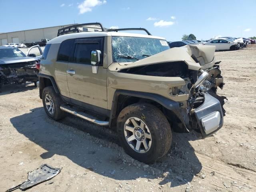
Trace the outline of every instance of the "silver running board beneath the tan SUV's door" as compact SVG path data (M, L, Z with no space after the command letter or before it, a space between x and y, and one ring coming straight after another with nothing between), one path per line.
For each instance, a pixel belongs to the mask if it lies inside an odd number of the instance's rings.
M84 120L87 120L87 121L90 121L96 125L100 125L100 126L108 126L109 122L108 121L100 121L100 120L96 120L95 117L89 115L89 114L86 114L84 112L77 112L75 109L73 109L72 107L64 104L64 105L61 105L60 106L60 109L62 111L65 111L65 112L68 112L74 116L78 116Z

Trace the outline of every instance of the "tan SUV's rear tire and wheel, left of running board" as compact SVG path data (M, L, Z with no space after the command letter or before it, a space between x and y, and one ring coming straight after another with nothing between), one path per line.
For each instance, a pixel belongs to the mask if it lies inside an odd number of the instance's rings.
M49 99L52 101L49 101ZM54 119L54 120L60 120L66 116L65 112L60 110L60 106L64 103L60 96L56 94L53 86L45 87L42 93L42 100L44 105L44 110L46 114ZM47 104L46 104L47 102ZM48 104L49 103L49 104ZM50 105L51 104L51 105ZM49 108L53 106L53 110Z

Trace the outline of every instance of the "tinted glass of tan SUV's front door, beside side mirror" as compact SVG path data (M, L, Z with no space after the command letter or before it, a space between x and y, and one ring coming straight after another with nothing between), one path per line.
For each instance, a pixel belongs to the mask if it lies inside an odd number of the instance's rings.
M100 44L97 42L76 43L76 48L74 52L74 62L82 64L91 64L92 50L100 50Z

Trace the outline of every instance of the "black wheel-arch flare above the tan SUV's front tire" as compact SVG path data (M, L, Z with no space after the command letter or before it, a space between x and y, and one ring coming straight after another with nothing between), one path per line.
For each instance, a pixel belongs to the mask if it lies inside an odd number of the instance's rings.
M189 116L188 114L184 113L184 111L182 111L182 109L180 108L179 102L170 100L168 98L165 98L164 96L154 94L154 93L136 92L136 91L130 91L130 90L116 90L116 92L114 93L112 108L110 112L110 122L109 122L110 126L113 123L112 120L114 120L118 116L116 112L117 112L117 106L118 106L118 97L120 95L150 99L159 103L164 108L172 111L184 125L185 127L184 131L189 132L187 128L187 125L189 124Z

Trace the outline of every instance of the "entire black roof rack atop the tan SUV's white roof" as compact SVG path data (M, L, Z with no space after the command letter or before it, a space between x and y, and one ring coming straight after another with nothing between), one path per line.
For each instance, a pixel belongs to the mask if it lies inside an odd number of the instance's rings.
M88 26L92 26L92 25L98 25L100 28L96 28L96 27L88 27ZM127 31L127 30L140 30L140 31L145 31L148 35L152 35L150 32L148 32L148 30L146 30L145 28L121 28L121 29L106 29L102 26L101 23L95 22L95 23L83 23L83 24L75 24L75 25L71 25L68 27L64 27L58 30L58 35L64 35L64 34L70 34L70 33L80 33L80 32L87 32L84 30L80 30L79 27L86 27L86 28L94 28L94 29L101 29L101 31L103 32L118 32L118 31Z

